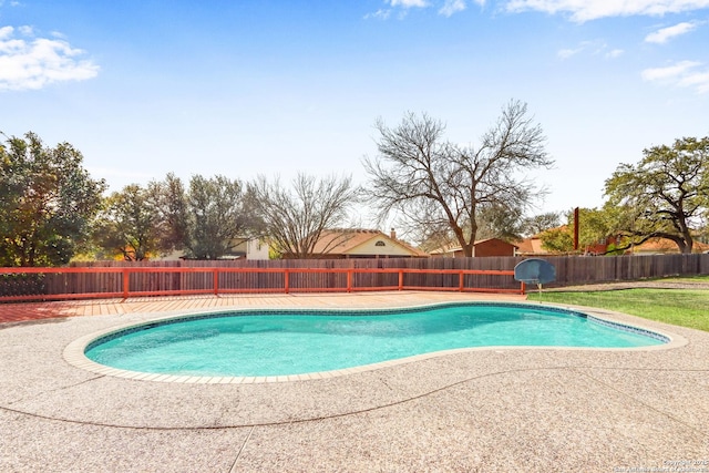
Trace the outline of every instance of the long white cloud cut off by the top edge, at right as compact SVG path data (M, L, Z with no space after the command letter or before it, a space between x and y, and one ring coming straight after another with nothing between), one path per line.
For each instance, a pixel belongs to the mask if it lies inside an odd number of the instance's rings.
M569 13L574 21L584 22L606 17L662 16L707 7L709 0L510 0L506 10Z

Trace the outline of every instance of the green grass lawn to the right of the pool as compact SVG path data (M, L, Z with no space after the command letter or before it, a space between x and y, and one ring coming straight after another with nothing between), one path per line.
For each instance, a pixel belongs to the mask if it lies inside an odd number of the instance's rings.
M687 278L689 281L709 278ZM665 279L681 281L681 279ZM536 292L530 300L538 300ZM588 292L544 292L544 302L572 304L617 310L645 319L709 331L707 289L621 289Z

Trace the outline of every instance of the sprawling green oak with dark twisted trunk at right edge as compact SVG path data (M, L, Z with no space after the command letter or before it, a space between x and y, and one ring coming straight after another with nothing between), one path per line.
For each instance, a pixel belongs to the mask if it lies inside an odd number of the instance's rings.
M684 137L643 154L606 179L606 206L620 210L616 224L628 245L665 238L691 253L709 209L709 137Z

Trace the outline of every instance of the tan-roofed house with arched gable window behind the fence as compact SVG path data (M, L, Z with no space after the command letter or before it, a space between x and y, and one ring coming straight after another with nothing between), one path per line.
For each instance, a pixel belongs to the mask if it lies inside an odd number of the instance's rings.
M397 239L395 232L343 228L322 232L314 248L315 258L428 258L429 255Z

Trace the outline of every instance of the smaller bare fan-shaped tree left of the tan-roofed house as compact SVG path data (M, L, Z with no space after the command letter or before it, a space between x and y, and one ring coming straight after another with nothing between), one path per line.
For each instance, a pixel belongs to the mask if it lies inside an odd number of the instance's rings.
M330 176L317 181L298 174L291 184L292 191L289 191L281 187L278 177L269 182L261 175L249 191L275 249L286 258L312 257L323 232L345 222L358 191L351 177Z

